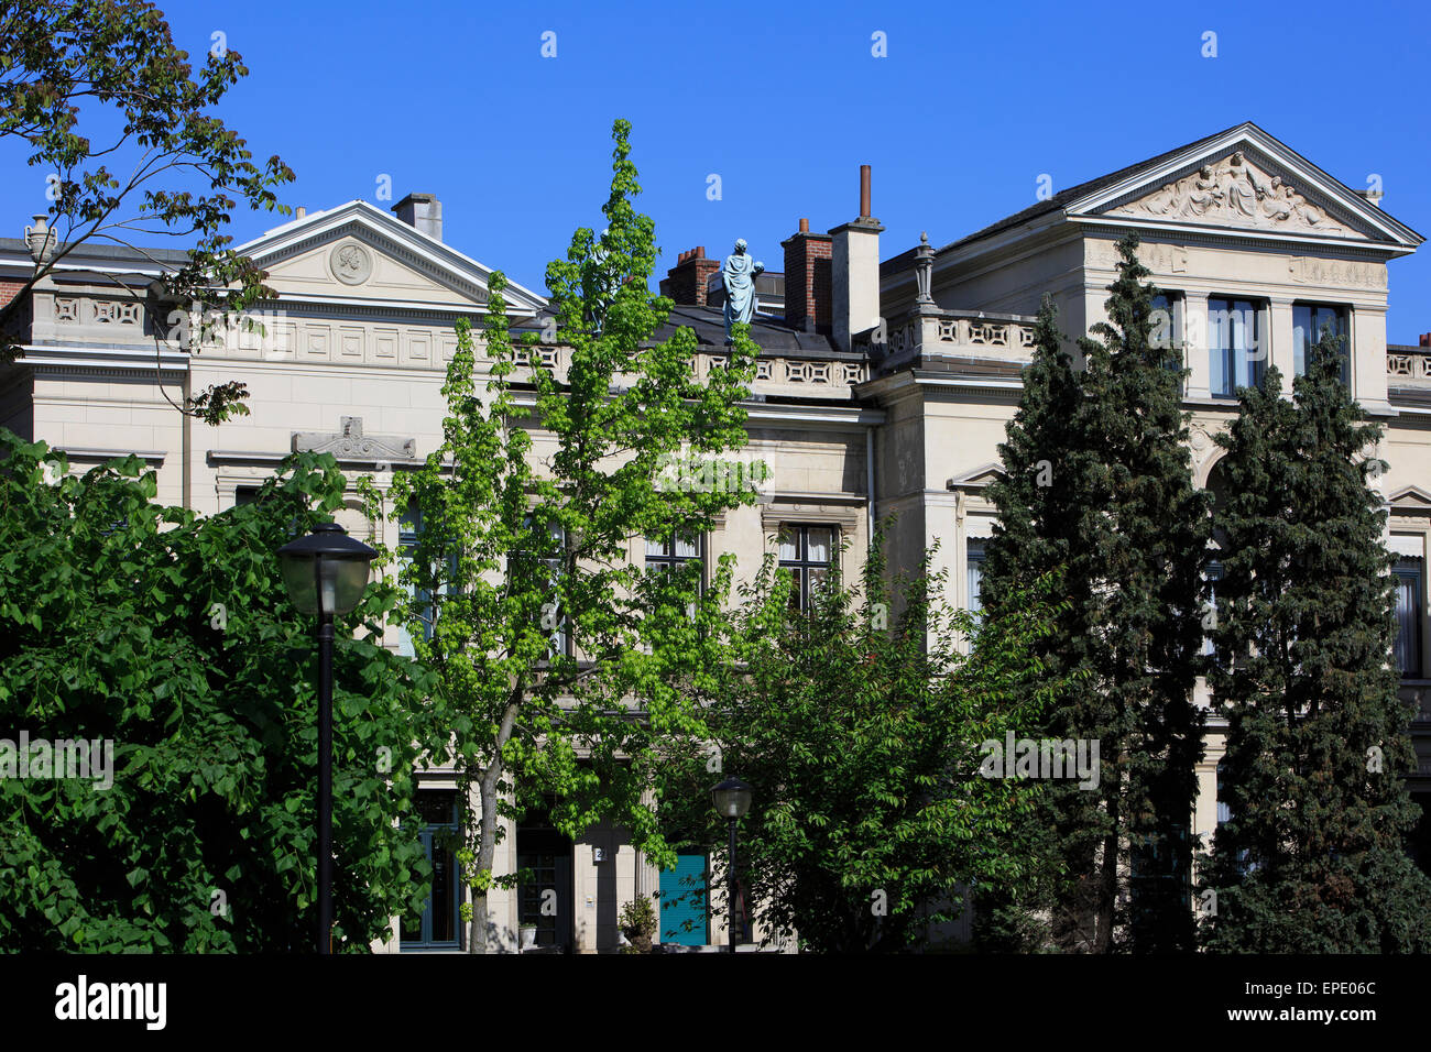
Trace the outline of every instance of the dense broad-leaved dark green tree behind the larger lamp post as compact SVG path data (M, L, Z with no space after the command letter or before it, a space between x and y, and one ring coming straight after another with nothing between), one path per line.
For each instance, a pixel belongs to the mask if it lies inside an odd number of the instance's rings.
M153 502L130 457L83 477L0 431L0 948L312 952L318 939L316 644L275 551L342 502L302 454L219 515ZM333 654L338 946L421 910L428 863L398 827L442 720L375 638L373 585ZM20 733L109 741L94 777L20 777ZM103 751L93 760L104 766Z

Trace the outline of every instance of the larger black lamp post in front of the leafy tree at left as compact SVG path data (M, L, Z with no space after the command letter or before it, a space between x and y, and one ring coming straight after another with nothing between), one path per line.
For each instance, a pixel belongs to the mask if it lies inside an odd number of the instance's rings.
M321 522L308 537L278 550L283 584L293 605L318 614L318 952L333 940L333 617L348 614L368 587L368 564L378 555L336 522Z

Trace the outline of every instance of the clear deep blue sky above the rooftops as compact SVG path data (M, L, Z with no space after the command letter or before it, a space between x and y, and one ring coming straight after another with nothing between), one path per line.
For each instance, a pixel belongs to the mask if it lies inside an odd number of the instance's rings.
M192 54L218 31L243 54L222 116L293 167L288 203L436 193L445 240L538 291L571 232L601 226L618 116L655 278L737 236L780 269L800 216L854 218L861 163L889 258L920 230L942 245L1030 205L1042 173L1058 190L1242 120L1352 187L1379 175L1384 208L1431 236L1422 3L162 6ZM29 193L36 176L0 159L9 199ZM245 213L235 235L275 223ZM1390 295L1391 342L1431 332L1431 245L1391 265Z

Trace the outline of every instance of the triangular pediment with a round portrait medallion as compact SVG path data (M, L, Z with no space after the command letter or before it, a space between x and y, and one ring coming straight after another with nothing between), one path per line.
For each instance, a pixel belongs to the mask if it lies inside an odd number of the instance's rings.
M491 268L362 200L295 219L239 252L263 268L280 302L487 311ZM545 306L511 282L502 295L514 318Z

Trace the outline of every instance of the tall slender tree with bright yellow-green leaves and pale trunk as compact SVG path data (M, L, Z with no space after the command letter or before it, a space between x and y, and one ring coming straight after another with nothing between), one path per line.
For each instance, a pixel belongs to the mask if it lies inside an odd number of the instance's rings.
M653 339L671 302L653 298L654 223L631 198L630 123L618 120L607 229L580 229L547 268L554 346L514 344L498 272L489 285L478 394L467 321L444 395L442 444L392 487L422 531L401 555L402 615L418 658L452 714L454 759L479 809L465 814L471 949L497 936L488 916L502 817L539 794L568 836L611 817L657 859L660 840L638 757L697 714L665 684L690 660L707 614L694 570L647 573L630 558L643 535L697 535L750 488L673 485L683 457L746 442L757 348L740 326L724 368L695 375L695 335ZM565 374L565 375L562 375ZM376 494L375 508L376 505ZM465 799L465 793L462 794ZM665 852L665 853L664 853ZM670 859L674 862L674 856ZM519 875L498 877L511 883Z

